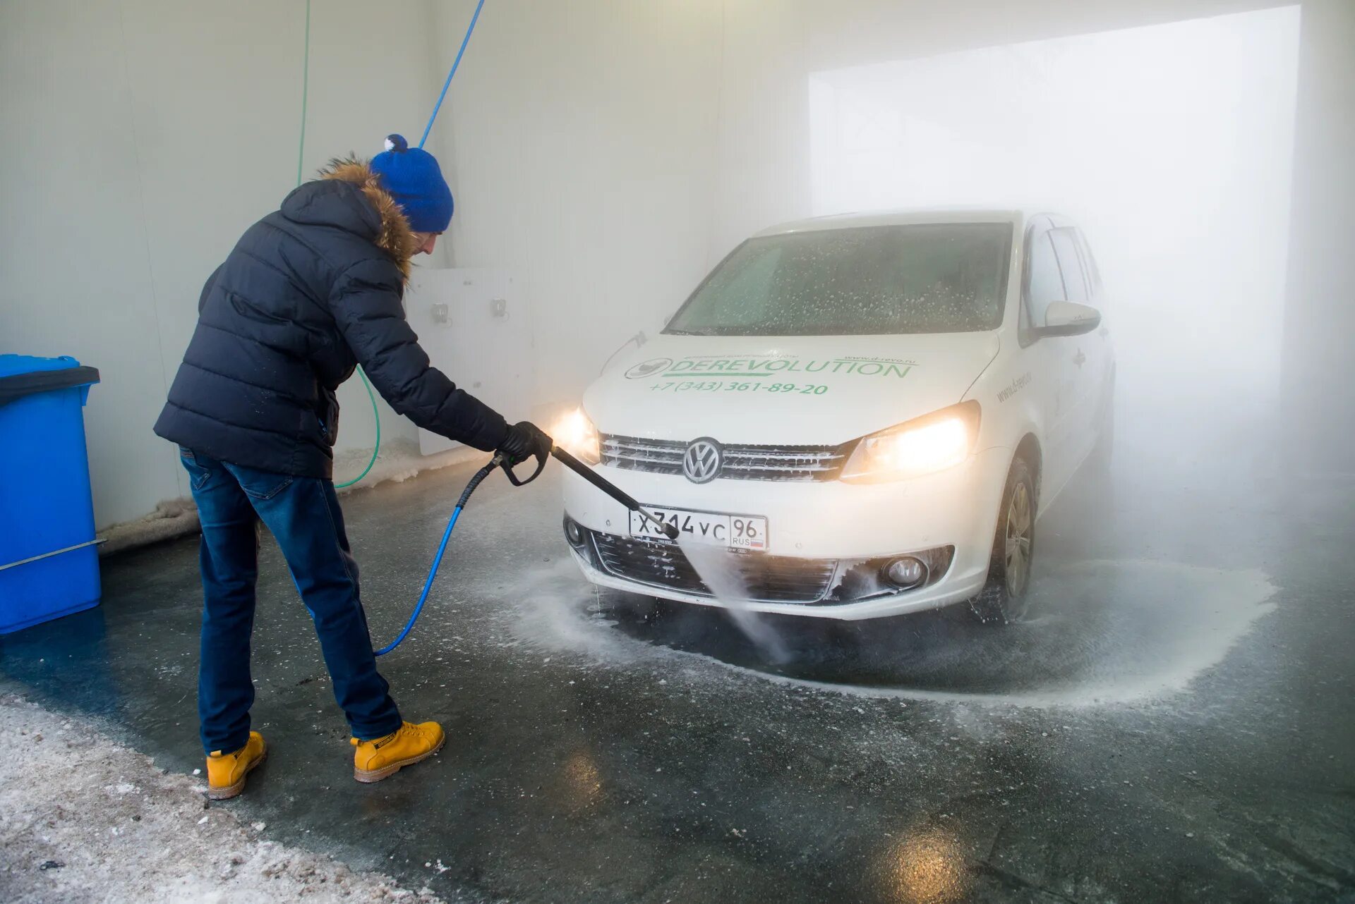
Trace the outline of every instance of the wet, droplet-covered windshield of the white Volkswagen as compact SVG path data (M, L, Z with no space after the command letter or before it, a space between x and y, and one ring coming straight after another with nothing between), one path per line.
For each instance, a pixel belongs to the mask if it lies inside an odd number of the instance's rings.
M751 238L668 323L692 336L970 333L1003 319L1007 223Z

